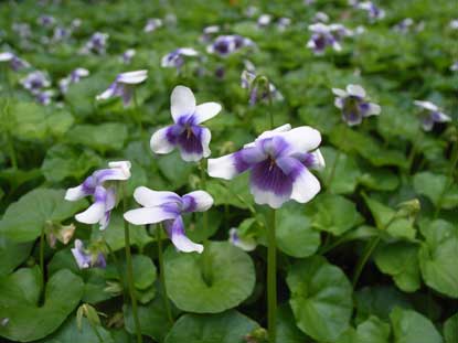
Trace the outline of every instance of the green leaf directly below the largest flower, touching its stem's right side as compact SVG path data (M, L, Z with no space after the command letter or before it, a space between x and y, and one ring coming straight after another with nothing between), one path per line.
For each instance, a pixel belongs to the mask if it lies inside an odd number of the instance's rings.
M288 203L277 211L278 248L292 257L308 257L320 246L320 233L303 210L303 205Z

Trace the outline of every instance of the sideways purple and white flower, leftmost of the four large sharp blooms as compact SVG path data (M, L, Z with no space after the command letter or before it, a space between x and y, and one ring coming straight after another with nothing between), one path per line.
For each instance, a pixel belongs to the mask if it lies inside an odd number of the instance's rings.
M130 178L129 161L109 162L108 167L108 169L95 171L81 185L68 189L65 193L67 201L78 201L85 196L94 197L94 204L86 211L76 214L75 218L85 224L98 223L100 229L108 226L111 210L116 205L116 189L107 186L106 183L126 181Z

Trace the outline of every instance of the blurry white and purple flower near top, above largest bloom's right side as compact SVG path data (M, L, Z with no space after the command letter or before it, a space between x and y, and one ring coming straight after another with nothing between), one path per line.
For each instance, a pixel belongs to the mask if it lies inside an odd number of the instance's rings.
M352 32L341 24L316 23L309 25L309 30L312 35L307 42L307 47L311 49L316 55L322 55L328 46L334 51L341 51L340 41L344 36L352 35Z

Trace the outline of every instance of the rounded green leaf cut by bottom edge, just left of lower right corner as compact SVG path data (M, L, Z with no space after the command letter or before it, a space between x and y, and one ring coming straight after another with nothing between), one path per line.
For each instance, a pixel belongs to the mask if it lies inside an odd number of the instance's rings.
M395 308L390 314L394 343L441 343L443 337L434 324L413 310Z

